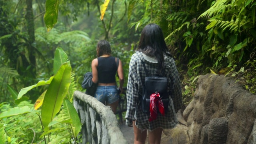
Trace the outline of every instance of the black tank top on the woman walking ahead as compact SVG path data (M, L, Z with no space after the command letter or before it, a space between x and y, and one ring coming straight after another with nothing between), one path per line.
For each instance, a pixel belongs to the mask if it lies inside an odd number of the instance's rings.
M98 82L99 83L113 83L116 82L116 58L98 57Z

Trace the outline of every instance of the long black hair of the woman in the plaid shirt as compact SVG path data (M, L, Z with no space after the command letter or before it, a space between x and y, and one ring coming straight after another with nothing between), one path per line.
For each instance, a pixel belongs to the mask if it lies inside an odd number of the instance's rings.
M146 25L140 35L138 50L149 56L155 56L158 60L158 70L164 73L164 54L170 55L164 41L162 29L157 24Z

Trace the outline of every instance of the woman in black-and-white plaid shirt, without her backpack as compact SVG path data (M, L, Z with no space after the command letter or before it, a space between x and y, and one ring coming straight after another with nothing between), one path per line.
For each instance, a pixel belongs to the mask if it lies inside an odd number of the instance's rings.
M145 82L146 65L152 76L160 75L168 79L168 111L149 122L149 114L142 112L142 85ZM168 52L161 28L157 24L148 24L141 32L138 51L132 55L127 85L126 126L134 128L134 144L144 144L149 136L150 144L160 144L163 129L174 128L178 124L176 112L182 106L180 78L174 59Z

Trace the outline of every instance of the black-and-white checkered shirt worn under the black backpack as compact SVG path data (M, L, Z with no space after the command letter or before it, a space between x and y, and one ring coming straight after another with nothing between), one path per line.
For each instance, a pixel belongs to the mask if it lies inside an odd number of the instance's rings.
M175 113L182 106L180 78L174 59L170 56L164 57L165 76L168 78L168 90L170 93L168 112L166 112L165 116L158 114L157 119L152 122L148 121L149 114L142 112L141 108L142 84L145 82L146 77L141 61L144 61L150 75L154 76L158 71L158 63L145 60L142 52L136 52L132 55L127 85L126 126L132 126L132 121L135 121L135 125L141 130L152 131L156 128L174 128L178 124Z

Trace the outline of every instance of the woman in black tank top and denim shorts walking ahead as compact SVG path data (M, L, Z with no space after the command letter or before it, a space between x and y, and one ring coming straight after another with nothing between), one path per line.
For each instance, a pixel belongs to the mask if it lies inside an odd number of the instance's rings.
M94 97L105 105L111 107L116 113L119 94L116 86L116 72L119 77L119 89L123 92L124 74L122 62L116 63L116 58L111 56L110 44L100 40L97 44L97 56L92 60L92 82L98 83ZM118 66L118 67L117 67Z

